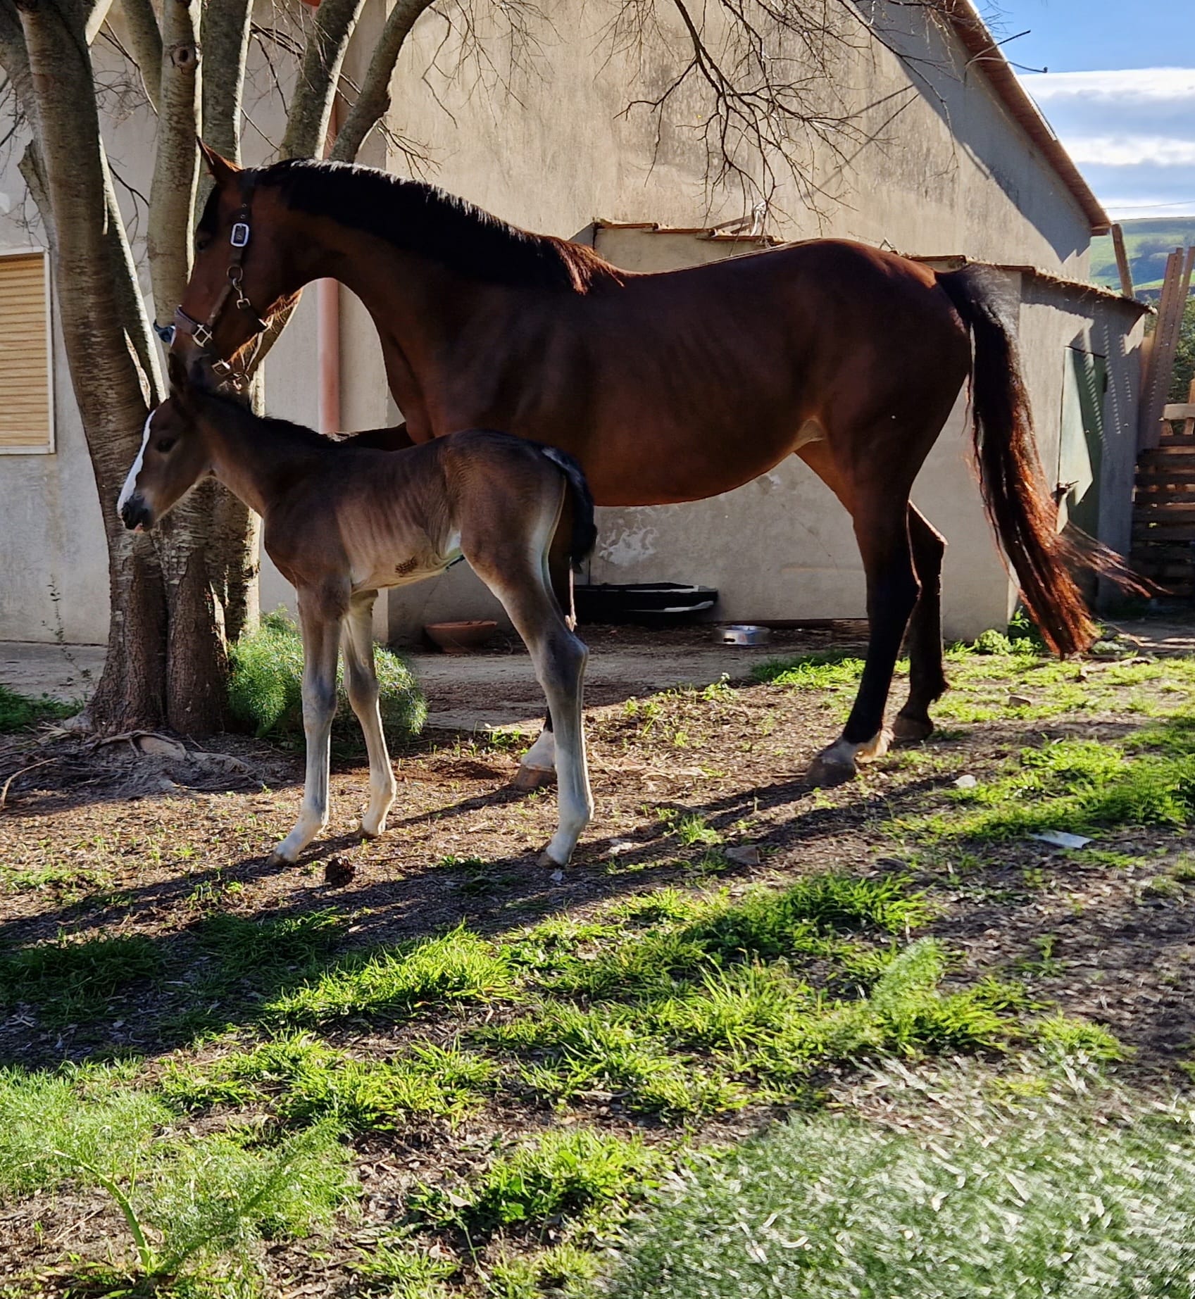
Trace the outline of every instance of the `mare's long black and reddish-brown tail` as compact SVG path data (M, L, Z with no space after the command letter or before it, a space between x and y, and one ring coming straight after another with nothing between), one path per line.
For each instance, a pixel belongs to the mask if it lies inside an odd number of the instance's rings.
M1124 560L1090 536L1056 531L1017 347L970 269L938 275L974 338L972 409L983 507L1012 561L1021 598L1055 653L1078 653L1096 637L1072 570L1086 565L1118 586L1148 594Z

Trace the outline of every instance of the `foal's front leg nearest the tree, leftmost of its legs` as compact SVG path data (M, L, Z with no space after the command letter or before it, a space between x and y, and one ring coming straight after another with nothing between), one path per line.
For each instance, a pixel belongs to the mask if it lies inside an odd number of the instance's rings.
M333 717L336 712L336 656L343 605L318 591L299 592L303 633L303 731L307 738L307 781L295 829L270 855L271 863L296 861L327 825L327 772Z

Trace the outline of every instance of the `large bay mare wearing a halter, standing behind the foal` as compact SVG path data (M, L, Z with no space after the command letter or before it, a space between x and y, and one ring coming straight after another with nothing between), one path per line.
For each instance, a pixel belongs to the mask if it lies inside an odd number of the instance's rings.
M469 427L562 447L599 505L729 491L796 455L851 513L866 574L866 665L846 727L809 776L882 753L908 633L909 695L892 730L933 731L944 539L909 501L970 379L983 500L1026 607L1060 653L1094 638L1055 531L1014 343L973 269L938 273L837 239L633 274L430 186L369 168L287 161L216 179L174 349L242 364L301 287L333 277L365 304L414 443ZM1098 546L1083 559L1116 574ZM551 765L551 737L523 760Z

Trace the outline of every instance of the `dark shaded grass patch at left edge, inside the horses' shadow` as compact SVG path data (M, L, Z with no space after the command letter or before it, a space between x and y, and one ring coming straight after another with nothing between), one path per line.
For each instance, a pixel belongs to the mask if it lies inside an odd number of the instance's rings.
M139 934L38 943L0 956L0 1007L27 1003L48 1025L97 1018L112 998L161 970L157 947Z

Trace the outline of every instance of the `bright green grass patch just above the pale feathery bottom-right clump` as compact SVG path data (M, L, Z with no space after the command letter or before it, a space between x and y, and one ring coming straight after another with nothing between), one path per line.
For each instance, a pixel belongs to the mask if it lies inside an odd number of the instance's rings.
M1007 1013L1014 990L994 982L939 990L946 953L931 939L883 953L868 972L870 994L853 998L827 996L787 964L744 961L739 947L729 959L699 944L674 952L670 966L643 963L649 977L598 979L601 995L590 1004L548 996L474 1038L507 1052L521 1083L544 1099L618 1098L631 1111L675 1118L759 1096L800 1099L812 1070L826 1064L995 1051L1017 1033ZM578 990L559 976L553 986Z

